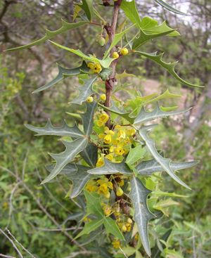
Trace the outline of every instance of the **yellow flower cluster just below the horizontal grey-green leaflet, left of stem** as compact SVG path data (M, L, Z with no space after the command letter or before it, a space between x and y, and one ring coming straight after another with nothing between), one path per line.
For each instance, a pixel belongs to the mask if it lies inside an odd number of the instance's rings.
M103 176L103 179L89 180L86 189L89 192L96 192L99 195L103 195L105 198L110 198L110 190L113 189L113 183L111 183L106 176Z

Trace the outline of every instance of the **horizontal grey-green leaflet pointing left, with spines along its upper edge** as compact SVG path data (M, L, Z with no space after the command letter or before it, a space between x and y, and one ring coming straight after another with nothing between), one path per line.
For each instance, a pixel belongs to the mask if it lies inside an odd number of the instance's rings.
M69 127L65 120L61 127L53 127L50 120L48 120L45 127L33 127L30 124L25 124L25 127L27 127L27 129L30 129L31 131L35 131L37 133L36 136L55 135L70 136L73 138L79 138L84 136L84 134L82 133L82 131L79 130L76 124L73 127Z

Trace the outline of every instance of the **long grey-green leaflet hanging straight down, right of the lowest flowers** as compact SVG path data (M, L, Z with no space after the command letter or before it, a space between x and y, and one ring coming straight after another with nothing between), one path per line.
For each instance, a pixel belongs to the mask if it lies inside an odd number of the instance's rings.
M134 205L134 221L139 228L143 248L148 256L151 256L151 247L148 241L148 221L153 219L154 215L148 210L146 203L147 196L151 191L143 186L143 183L135 176L132 177L131 186L132 191L129 193L129 198Z

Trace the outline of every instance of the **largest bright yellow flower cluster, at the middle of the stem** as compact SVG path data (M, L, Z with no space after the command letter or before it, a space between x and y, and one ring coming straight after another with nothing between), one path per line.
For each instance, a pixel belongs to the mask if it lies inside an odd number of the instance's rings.
M107 115L107 114L106 114ZM104 121L107 122L107 117ZM102 118L97 120L96 124L101 124ZM105 157L111 162L121 162L122 157L127 155L129 148L132 145L133 136L136 130L132 127L115 126L113 130L104 127L104 134L98 134L101 145L106 145L108 154ZM103 158L100 157L97 162L97 167L103 165Z

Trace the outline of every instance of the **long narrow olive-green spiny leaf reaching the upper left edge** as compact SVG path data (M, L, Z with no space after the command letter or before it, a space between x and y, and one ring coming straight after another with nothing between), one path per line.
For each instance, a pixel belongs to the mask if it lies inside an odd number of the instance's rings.
M6 51L15 51L15 50L20 50L20 49L27 49L27 48L30 48L31 46L39 45L39 44L43 43L44 41L46 41L48 39L52 39L53 37L55 37L58 34L66 32L67 30L72 30L74 28L81 27L81 26L83 26L87 23L88 22L86 22L86 21L69 23L69 22L65 22L65 20L62 20L62 27L60 27L60 29L53 30L53 31L46 30L45 36L42 37L41 39L38 39L38 40L36 40L36 41L34 41L30 44L24 45L24 46L18 46L18 47L13 48L13 49L7 49Z

